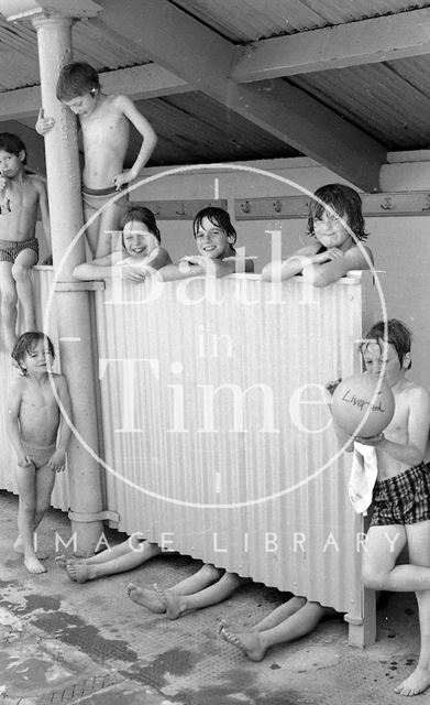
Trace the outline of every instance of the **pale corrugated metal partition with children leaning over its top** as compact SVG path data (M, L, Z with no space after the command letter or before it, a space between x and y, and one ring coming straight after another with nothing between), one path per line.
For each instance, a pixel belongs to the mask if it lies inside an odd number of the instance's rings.
M120 529L359 616L362 527L322 386L357 371L360 281L297 278L279 292L195 279L96 296Z

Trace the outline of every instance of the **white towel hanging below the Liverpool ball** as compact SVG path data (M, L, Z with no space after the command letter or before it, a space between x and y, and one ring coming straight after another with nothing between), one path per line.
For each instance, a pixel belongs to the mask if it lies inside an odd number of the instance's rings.
M373 445L354 442L349 494L355 511L366 514L377 477L377 457Z

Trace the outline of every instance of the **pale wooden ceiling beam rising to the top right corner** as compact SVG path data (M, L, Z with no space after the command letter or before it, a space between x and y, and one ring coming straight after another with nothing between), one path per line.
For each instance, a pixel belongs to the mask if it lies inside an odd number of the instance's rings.
M236 46L230 78L251 83L430 53L430 9Z

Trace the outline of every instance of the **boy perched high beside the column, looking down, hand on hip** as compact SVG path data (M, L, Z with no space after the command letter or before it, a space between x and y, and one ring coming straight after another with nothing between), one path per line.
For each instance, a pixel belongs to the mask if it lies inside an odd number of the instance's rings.
M88 220L121 188L136 178L154 151L156 134L151 123L139 112L128 96L101 93L95 68L84 62L66 64L59 73L57 98L79 116L84 140L82 196L84 215ZM124 159L130 141L130 123L143 138L141 150L130 170ZM40 111L36 130L46 134L53 118ZM92 257L103 257L115 249L114 232L128 205L128 196L118 198L87 227Z

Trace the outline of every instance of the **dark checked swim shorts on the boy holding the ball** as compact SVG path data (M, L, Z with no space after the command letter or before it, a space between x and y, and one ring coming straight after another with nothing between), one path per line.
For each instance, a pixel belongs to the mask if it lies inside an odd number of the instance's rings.
M430 462L375 482L371 527L416 524L430 519Z

